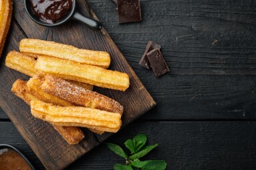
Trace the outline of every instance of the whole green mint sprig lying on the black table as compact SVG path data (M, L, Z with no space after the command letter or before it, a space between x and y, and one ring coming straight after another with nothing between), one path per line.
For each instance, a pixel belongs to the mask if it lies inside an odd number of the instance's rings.
M125 165L117 163L114 165L114 170L164 170L166 169L166 162L163 160L148 160L148 161L140 161L139 158L147 155L152 149L158 146L155 145L146 145L146 135L138 134L133 139L128 139L124 142L124 145L129 149L131 155L128 156L127 153L120 147L114 143L107 143L108 148L111 151L126 159Z

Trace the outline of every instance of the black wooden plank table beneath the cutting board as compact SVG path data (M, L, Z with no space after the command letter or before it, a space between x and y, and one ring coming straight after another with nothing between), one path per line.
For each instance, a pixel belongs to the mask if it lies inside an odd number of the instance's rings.
M89 3L157 103L108 142L145 133L159 143L147 158L167 169L256 168L256 1L141 0L143 21L122 25L113 1ZM138 65L149 40L171 70L160 78ZM44 169L1 109L0 143ZM102 144L67 169L114 163L123 161Z

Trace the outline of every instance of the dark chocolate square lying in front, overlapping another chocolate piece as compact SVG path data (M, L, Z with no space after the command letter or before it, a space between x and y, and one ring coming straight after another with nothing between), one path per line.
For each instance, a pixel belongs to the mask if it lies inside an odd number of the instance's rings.
M150 66L154 71L154 75L159 77L164 73L170 72L168 65L166 64L164 57L162 57L162 53L160 49L153 49L152 51L148 52L147 54L148 61L150 62Z

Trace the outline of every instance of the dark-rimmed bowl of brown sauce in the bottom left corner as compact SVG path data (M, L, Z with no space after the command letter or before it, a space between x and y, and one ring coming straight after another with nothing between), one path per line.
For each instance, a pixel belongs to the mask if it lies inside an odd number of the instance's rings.
M0 145L0 169L35 170L29 160L15 147Z

